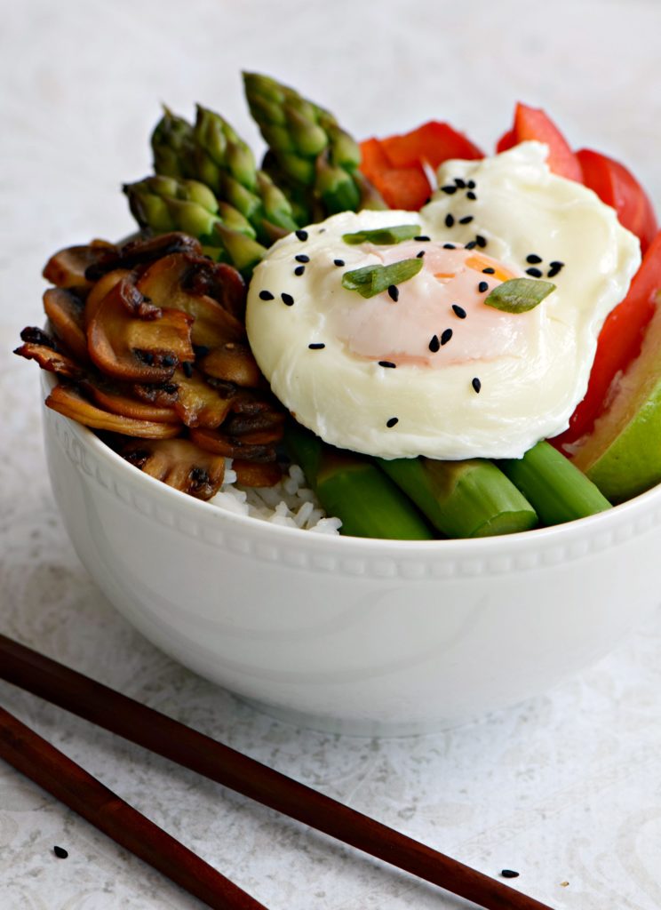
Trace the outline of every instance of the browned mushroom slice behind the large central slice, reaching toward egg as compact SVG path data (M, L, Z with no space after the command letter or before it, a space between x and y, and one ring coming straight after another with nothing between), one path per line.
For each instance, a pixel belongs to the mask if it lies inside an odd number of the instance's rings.
M195 258L184 253L157 259L138 279L136 288L157 307L181 309L192 316L195 322L191 337L195 345L212 349L226 341L245 339L245 329L235 316L212 298L185 289L192 264Z

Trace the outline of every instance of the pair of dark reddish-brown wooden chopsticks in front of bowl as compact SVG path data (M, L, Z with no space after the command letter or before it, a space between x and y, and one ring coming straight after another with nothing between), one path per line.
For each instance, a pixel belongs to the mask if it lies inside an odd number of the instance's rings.
M0 678L485 910L552 910L5 635ZM0 758L207 905L266 910L2 708Z

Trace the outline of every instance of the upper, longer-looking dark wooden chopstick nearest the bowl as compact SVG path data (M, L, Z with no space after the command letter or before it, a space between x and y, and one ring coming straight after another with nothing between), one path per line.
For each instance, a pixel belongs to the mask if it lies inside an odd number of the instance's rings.
M552 910L5 635L0 678L485 910Z

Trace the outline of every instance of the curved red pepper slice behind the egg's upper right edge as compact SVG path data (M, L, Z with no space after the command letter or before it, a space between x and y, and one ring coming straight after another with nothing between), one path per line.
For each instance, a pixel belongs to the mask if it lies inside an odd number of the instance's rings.
M582 148L576 157L586 187L594 189L606 206L615 208L620 224L636 234L645 253L658 227L652 203L636 177L619 161L590 148Z

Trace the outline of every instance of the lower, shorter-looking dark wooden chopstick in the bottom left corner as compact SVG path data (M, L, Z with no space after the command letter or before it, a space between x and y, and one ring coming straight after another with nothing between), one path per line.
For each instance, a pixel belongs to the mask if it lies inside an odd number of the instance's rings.
M0 758L215 910L266 910L2 707Z

